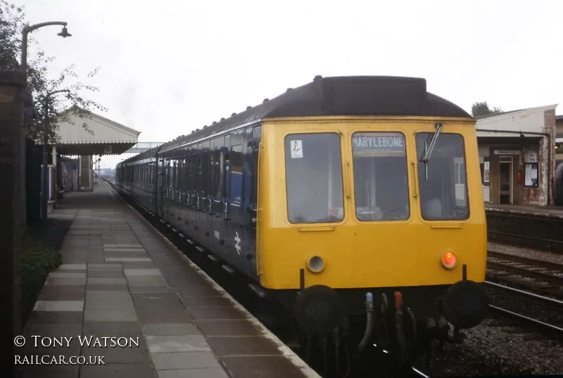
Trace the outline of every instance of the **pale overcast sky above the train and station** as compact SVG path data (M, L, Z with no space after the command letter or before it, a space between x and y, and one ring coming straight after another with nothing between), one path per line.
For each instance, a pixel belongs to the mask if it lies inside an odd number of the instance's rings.
M12 0L56 61L74 64L100 114L170 141L315 75L424 77L429 92L471 110L563 103L563 1ZM557 114L563 113L557 108ZM114 167L129 156L105 156Z

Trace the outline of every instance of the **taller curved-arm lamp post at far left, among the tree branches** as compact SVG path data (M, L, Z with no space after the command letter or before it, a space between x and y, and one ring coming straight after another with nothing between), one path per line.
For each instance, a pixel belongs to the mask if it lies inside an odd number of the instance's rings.
M61 32L59 32L57 35L63 38L66 37L71 37L71 34L68 33L68 30L66 29L66 25L67 23L63 22L63 21L49 21L46 23L38 23L38 24L34 24L34 25L30 25L30 26L26 26L22 29L22 51L21 51L21 61L20 61L20 70L22 71L23 75L24 75L24 80L25 80L25 86L27 87L27 37L30 34L30 32L33 32L34 30L37 30L41 27L46 27L46 26L53 26L53 25L61 25L63 26L63 29L61 30ZM21 125L25 126L26 124L26 119L25 119L25 114L22 114L22 122ZM44 146L44 149L46 147ZM20 186L20 203L21 203L21 221L22 221L22 225L25 227L25 225L27 225L27 206L26 206L26 179L25 179L25 172L26 172L26 164L25 164L25 151L26 151L26 143L25 143L25 132L22 133L21 136L21 140L20 140L20 165L21 165L21 170L20 170L20 182L21 182L21 186Z

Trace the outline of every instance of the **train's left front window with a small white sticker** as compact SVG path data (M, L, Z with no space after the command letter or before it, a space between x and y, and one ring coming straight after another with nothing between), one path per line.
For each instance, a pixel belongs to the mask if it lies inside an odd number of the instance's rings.
M287 213L291 223L344 219L338 134L291 134L285 139Z

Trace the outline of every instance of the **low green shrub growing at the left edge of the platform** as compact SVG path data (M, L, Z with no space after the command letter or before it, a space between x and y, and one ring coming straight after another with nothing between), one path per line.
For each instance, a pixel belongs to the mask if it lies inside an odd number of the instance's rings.
M62 260L57 251L44 246L27 232L20 235L16 248L21 258L21 289L25 300L41 289L49 272L56 270Z

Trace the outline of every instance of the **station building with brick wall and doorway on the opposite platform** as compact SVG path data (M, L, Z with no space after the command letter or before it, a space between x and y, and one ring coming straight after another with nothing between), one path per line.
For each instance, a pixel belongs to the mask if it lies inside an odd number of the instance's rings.
M557 104L540 106L477 120L486 203L555 203L556 108Z

